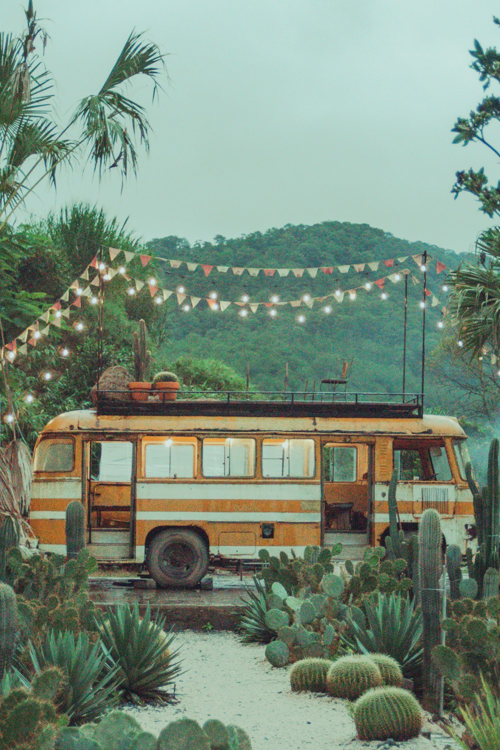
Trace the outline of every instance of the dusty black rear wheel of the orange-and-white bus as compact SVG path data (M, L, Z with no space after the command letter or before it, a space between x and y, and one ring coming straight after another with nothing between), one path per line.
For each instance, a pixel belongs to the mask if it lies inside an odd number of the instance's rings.
M161 589L192 589L208 570L208 547L190 529L165 529L148 547L147 566Z

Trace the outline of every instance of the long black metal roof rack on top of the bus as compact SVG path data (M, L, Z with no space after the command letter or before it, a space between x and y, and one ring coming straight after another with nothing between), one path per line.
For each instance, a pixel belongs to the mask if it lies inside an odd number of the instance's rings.
M130 391L94 392L97 414L107 416L266 416L415 418L424 413L421 393L325 393L310 391L190 391L189 398L133 401ZM181 394L181 397L184 394Z

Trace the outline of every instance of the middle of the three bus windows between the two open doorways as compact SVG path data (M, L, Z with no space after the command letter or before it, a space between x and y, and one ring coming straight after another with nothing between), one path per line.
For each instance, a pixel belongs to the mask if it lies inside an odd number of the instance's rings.
M202 444L203 476L254 476L255 440L239 437L205 437Z

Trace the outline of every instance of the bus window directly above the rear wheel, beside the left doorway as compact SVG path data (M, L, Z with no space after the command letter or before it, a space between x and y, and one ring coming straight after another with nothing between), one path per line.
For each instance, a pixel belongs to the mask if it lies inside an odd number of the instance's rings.
M196 441L167 437L161 443L144 443L143 472L146 478L186 479L195 475Z

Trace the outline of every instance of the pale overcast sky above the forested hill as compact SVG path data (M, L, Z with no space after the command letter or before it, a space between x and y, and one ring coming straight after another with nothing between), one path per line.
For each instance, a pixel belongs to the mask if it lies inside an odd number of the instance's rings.
M96 202L143 239L190 242L286 223L369 223L411 241L469 251L490 222L454 201L457 169L499 165L451 145L481 101L468 50L500 44L498 2L475 0L34 0L49 31L57 114L100 88L130 31L166 57L169 80L148 107L151 153L121 191L115 170L62 172L28 211ZM20 31L23 3L0 0ZM497 92L493 92L497 93ZM498 135L498 133L497 133ZM498 143L497 143L498 145Z

